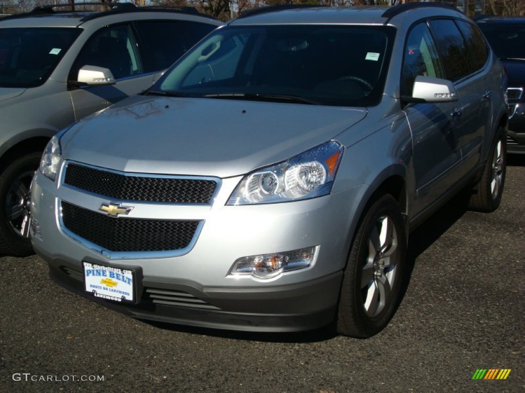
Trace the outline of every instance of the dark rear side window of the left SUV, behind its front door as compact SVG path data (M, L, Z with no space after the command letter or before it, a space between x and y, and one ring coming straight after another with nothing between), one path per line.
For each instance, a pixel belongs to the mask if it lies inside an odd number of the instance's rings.
M181 21L144 20L134 24L142 41L145 72L169 68L191 47Z

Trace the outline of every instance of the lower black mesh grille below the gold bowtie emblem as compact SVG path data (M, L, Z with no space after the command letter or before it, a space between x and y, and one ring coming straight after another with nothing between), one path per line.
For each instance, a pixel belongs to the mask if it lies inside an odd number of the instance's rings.
M178 250L193 239L199 221L114 218L62 201L70 232L111 252Z

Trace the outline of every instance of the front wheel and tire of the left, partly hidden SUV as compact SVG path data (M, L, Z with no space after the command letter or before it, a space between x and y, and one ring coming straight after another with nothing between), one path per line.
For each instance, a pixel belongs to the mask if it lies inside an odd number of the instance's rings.
M29 238L31 179L41 152L31 152L10 163L0 175L0 254L33 255Z

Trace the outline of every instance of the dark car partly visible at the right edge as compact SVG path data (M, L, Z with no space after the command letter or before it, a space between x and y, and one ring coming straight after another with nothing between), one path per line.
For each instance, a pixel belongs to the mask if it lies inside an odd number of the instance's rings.
M478 26L509 75L509 152L525 154L525 17L483 17Z

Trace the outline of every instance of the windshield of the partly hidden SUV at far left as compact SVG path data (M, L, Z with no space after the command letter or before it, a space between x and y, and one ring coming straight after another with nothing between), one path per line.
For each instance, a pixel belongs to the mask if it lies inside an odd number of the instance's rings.
M1 28L0 87L43 84L80 34L77 28Z

